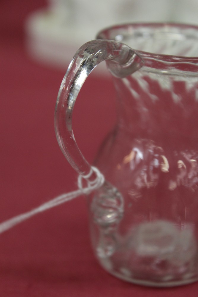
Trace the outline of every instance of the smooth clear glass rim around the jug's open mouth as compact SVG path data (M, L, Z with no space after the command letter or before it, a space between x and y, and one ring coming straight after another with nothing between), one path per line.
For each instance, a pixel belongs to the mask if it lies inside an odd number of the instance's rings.
M118 24L109 26L107 28L102 29L99 31L99 33L96 35L96 39L108 39L108 40L115 40L120 41L121 40L121 32L126 32L127 35L132 35L135 29L138 29L140 27L147 27L147 28L178 28L178 29L186 29L186 30L194 30L197 31L197 42L198 42L198 26L186 24L186 23L174 23L174 22L135 22L135 23L124 23L124 24ZM117 34L116 34L117 31ZM113 33L114 38L108 38L112 37L110 36L110 33ZM191 34L192 36L192 34ZM130 46L130 45L128 45ZM171 54L161 54L161 53L154 53L144 50L138 50L136 48L133 48L134 51L137 53L140 53L143 59L155 59L155 60L161 60L164 62L179 62L179 63L192 63L192 64L198 64L198 50L197 50L197 56L180 56L180 55L171 55Z

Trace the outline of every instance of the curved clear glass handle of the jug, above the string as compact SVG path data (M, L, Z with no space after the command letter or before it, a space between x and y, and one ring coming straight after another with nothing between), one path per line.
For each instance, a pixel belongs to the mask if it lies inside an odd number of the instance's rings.
M107 60L110 72L126 77L143 65L142 58L129 46L111 40L85 43L75 54L61 83L55 109L55 131L66 159L88 181L96 176L79 150L72 130L72 113L77 95L89 75L100 62Z

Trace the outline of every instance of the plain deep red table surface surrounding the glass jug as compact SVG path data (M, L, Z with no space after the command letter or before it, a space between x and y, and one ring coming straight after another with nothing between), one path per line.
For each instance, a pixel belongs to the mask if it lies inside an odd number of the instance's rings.
M24 20L45 1L0 2L1 221L77 189L77 174L54 133L54 107L64 71L26 53ZM91 75L77 100L74 130L92 162L115 121L110 79ZM197 296L198 283L149 288L123 282L96 262L86 200L79 197L0 235L0 296Z

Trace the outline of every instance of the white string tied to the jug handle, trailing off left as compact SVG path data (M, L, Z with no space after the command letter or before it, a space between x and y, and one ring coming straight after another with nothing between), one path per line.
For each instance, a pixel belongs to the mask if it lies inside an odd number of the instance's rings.
M0 223L0 233L5 232L8 229L11 229L15 225L18 225L19 223L33 217L35 214L38 214L39 212L43 212L49 208L53 208L55 206L58 206L59 204L68 202L69 200L72 200L74 198L77 198L78 196L82 194L90 194L92 191L98 189L104 184L104 176L103 174L98 170L98 168L92 166L91 170L93 170L96 173L96 179L92 182L88 182L88 186L83 188L82 185L82 179L84 177L79 176L78 177L78 190L62 194L60 196L57 196L56 198L53 198L50 201L47 201L43 203L42 205L32 209L31 211L27 211L23 214L19 214L16 217L13 217L11 219L8 219L2 223Z

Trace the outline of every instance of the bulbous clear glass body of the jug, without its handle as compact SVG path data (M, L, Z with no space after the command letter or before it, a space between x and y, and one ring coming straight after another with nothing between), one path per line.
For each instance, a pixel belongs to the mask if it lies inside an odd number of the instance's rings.
M98 221L96 194L90 224L94 250L105 269L132 282L169 286L194 281L198 271L197 61L160 56L159 48L188 54L187 45L180 45L181 32L173 36L174 27L161 27L162 40L160 27L150 29L153 37L146 41L158 55L140 52L144 66L127 78L114 78L118 123L96 159L122 194L123 217L107 225ZM141 32L143 25L134 29L134 36L126 38L125 33L125 39L132 48L147 50L146 41L137 40L144 40ZM119 32L117 38L121 36Z

